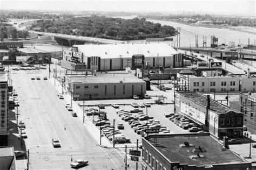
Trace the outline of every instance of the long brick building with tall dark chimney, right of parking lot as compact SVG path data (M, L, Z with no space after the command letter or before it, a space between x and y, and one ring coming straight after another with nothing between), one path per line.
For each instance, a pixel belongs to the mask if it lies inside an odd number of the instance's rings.
M215 137L242 137L244 115L241 112L198 92L179 92L175 97L176 111Z

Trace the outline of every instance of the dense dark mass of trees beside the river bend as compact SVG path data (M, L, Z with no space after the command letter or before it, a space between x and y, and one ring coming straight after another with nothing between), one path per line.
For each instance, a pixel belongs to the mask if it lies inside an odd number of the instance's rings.
M177 31L172 26L147 22L145 18L72 17L40 20L31 29L40 27L52 33L76 36L107 38L116 40L141 40L174 36Z

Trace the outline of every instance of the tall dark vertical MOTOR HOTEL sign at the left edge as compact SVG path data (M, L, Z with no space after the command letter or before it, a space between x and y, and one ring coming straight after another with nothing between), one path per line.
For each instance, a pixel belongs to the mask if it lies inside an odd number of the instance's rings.
M8 133L8 83L0 83L1 91L1 122L0 122L0 134Z

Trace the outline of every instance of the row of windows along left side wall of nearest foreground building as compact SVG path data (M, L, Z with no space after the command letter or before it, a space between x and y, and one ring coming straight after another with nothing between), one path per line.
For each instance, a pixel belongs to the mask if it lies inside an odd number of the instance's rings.
M166 170L166 168L163 167L163 165L157 159L155 159L151 153L146 151L144 154L144 148L142 148L142 159L144 159L144 161L155 170Z

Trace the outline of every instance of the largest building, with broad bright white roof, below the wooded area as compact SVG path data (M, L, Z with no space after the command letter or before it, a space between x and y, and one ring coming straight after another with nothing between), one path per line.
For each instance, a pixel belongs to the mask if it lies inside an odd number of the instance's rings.
M83 62L87 69L122 70L144 67L181 67L183 56L168 44L73 45L63 53L63 61ZM64 67L64 66L63 66Z

